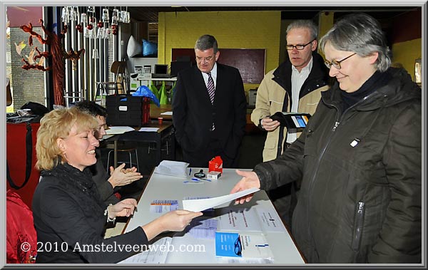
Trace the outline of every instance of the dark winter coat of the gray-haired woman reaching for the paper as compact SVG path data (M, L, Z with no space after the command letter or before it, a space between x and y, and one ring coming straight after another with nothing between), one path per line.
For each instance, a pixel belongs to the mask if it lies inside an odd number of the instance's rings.
M282 156L255 167L263 189L302 177L292 235L310 263L421 260L421 90L404 70L342 112L340 88Z

